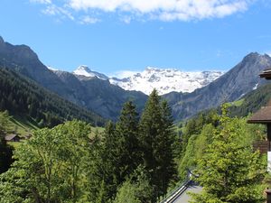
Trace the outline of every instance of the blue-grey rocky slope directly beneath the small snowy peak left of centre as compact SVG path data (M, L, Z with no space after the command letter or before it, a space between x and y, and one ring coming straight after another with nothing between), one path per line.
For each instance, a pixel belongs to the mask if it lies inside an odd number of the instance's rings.
M76 103L98 112L106 118L117 120L123 104L132 100L141 111L147 96L142 92L126 91L123 88L111 85L108 80L97 77L74 75L66 71L54 71L61 81L70 88Z

